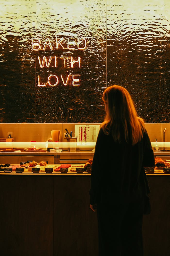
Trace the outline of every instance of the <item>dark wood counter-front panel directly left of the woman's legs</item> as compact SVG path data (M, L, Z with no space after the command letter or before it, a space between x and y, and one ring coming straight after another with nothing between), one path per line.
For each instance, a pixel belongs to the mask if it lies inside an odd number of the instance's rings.
M90 176L54 177L54 255L97 256L97 213L89 208Z

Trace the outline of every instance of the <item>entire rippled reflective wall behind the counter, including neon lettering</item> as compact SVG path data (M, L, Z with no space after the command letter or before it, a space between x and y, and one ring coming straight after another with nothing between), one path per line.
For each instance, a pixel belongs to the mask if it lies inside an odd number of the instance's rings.
M169 24L168 0L1 0L0 122L101 123L111 84L169 122Z

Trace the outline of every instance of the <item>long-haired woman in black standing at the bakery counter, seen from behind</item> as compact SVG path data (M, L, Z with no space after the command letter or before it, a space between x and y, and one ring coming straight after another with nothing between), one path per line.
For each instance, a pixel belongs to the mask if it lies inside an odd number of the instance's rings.
M142 256L144 198L150 192L145 166L154 155L143 119L128 91L108 87L106 117L91 170L90 208L98 215L99 255Z

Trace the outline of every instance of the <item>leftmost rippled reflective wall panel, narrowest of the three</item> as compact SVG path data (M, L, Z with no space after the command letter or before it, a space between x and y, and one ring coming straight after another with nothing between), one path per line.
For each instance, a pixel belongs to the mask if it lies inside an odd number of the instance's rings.
M0 122L35 122L35 0L1 0Z

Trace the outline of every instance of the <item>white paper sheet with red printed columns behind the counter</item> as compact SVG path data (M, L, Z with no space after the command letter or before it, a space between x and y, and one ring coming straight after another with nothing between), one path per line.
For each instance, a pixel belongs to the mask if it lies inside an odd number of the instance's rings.
M77 142L96 142L100 125L79 125L75 124L75 136Z

